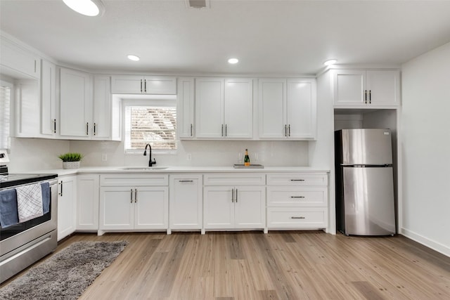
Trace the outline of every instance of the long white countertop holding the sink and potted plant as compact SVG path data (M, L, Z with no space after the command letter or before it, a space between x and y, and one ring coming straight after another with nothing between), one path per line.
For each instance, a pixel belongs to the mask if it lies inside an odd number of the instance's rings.
M141 166L132 166L141 167ZM155 166L166 167L166 166ZM167 167L167 169L124 169L125 167L81 167L79 169L44 169L30 171L27 173L58 174L58 176L72 174L94 174L94 173L286 173L286 172L329 172L329 169L314 167L264 167L264 169L235 169L233 167Z

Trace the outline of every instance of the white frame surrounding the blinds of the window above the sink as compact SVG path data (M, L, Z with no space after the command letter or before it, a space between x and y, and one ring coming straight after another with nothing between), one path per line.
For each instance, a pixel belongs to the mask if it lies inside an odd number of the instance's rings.
M129 115L127 115L127 107L131 106L142 106L142 107L174 107L177 110L176 97L165 98L146 98L146 99L123 99L122 100L122 116L123 116L123 136L124 136L124 154L125 155L142 155L144 149L128 149L127 145L130 143L130 131L129 124L127 121L129 120ZM176 111L176 113L178 113ZM176 119L176 125L178 123L178 119ZM178 130L175 127L175 147L176 149L155 149L152 148L152 154L158 155L175 155L178 152L179 148L179 137Z

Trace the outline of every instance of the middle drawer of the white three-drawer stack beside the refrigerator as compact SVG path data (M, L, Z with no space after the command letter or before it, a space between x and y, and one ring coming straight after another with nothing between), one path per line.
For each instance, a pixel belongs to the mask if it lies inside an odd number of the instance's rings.
M296 187L274 185L267 187L269 207L326 207L328 189L324 187Z

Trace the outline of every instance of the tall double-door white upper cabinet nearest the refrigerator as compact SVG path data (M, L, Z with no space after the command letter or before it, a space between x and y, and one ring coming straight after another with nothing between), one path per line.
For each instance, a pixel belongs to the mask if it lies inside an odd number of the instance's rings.
M259 79L259 138L316 137L316 79Z

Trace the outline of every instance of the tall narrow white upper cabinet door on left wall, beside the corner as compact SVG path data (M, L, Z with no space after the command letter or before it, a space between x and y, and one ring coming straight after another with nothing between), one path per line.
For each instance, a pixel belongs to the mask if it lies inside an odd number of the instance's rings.
M41 133L56 133L56 65L47 60L41 64Z

